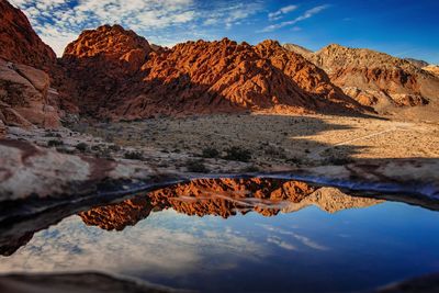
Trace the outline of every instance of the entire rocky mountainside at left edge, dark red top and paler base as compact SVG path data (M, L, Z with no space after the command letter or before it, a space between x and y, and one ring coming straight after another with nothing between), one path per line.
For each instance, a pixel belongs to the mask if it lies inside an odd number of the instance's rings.
M44 44L26 16L0 0L0 136L5 125L57 127L52 103L56 91L47 75L56 67L55 53Z

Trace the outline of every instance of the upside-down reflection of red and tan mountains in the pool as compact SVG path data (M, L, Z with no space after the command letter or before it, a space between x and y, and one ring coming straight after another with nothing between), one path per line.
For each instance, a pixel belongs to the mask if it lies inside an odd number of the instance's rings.
M255 211L263 216L292 213L315 205L328 213L368 207L380 200L350 196L333 188L274 179L200 179L180 183L79 215L87 225L122 230L154 211L172 209L187 215L227 218Z

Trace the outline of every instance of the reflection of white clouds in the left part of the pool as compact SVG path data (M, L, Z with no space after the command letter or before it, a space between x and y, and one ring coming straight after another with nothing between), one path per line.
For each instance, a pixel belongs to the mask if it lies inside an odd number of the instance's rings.
M233 268L257 261L261 245L224 228L217 218L188 217L166 211L124 232L86 227L77 216L37 233L15 255L1 259L0 272L103 270L179 274Z

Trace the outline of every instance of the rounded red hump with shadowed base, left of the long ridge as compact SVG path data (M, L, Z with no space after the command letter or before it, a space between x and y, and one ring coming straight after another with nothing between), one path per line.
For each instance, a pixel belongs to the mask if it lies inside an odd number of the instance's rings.
M145 38L120 25L83 31L63 55L66 78L61 87L72 92L82 113L97 114L106 106L109 95L132 86L150 52Z

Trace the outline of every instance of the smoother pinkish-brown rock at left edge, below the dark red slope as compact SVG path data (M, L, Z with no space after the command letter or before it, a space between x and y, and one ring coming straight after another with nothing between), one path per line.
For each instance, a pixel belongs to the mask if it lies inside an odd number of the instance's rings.
M49 77L31 66L0 59L0 120L11 126L60 125L48 101Z

